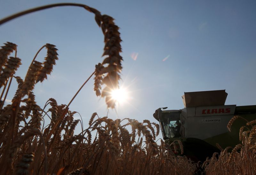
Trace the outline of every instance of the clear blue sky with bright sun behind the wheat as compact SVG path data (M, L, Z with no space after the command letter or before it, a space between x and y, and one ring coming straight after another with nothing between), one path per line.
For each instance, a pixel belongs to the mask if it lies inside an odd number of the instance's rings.
M255 1L2 1L0 18L28 8L58 2L76 2L115 18L120 27L124 58L123 81L129 86L129 104L118 117L156 122L159 107L182 109L181 96L189 91L226 89L226 105L256 105ZM0 26L0 43L18 45L24 78L37 50L45 43L59 49L52 75L35 87L43 107L49 98L68 104L83 82L102 62L103 34L94 15L79 7L58 7L32 13ZM3 44L1 44L2 46ZM43 62L46 51L38 55ZM137 55L136 61L131 55ZM133 57L134 58L134 57ZM9 99L15 93L12 84ZM91 114L107 114L104 99L93 92L91 79L70 106L84 123ZM108 116L115 119L110 110Z

